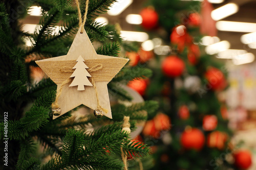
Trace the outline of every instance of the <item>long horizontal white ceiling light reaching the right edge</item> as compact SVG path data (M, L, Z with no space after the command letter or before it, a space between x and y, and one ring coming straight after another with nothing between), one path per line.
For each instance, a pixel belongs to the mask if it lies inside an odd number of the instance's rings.
M256 23L249 22L233 22L233 21L218 21L216 28L220 31L233 31L233 32L255 32Z

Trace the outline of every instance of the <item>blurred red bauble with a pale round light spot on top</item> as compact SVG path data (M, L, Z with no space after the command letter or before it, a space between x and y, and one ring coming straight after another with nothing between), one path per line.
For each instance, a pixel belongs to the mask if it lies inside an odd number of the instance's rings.
M182 52L187 41L187 31L185 26L177 26L170 34L170 42L178 46L178 51Z

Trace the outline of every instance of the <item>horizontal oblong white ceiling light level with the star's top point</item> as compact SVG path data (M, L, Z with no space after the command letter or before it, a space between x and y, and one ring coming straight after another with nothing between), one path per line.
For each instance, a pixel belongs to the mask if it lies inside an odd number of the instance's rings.
M135 31L120 31L120 36L124 41L138 41L144 42L148 40L148 34L144 32L135 32Z

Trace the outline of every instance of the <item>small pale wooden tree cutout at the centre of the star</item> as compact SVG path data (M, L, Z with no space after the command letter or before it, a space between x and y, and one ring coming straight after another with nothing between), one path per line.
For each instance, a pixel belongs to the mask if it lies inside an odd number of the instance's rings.
M74 80L69 85L72 86L78 86L77 90L84 90L84 86L93 86L92 83L88 80L87 77L92 77L89 72L86 70L86 68L89 68L86 64L84 64L84 60L81 56L78 57L76 60L77 63L73 67L75 71L70 76L71 78L74 77Z

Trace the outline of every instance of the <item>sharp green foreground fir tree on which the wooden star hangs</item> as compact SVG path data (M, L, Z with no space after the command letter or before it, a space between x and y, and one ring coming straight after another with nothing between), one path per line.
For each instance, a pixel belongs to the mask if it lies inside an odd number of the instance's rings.
M131 46L122 43L114 26L94 21L114 2L91 0L84 29L92 42L100 44L97 54L118 57L121 47ZM82 15L85 4L80 2ZM31 6L40 6L42 13L34 34L22 31L20 24ZM127 66L108 84L116 103L112 107L113 119L96 119L90 109L90 114L73 114L78 108L52 119L56 85L49 78L40 80L45 76L35 60L68 53L78 30L77 13L73 1L0 3L0 136L8 143L1 141L1 169L122 169L121 147L124 155L135 158L150 153L146 145L131 142L129 133L122 131L123 117L130 116L130 129L134 131L137 122L147 119L141 111L151 115L157 103L121 104L131 101L132 96L120 86L134 78L150 77L152 71L147 68ZM32 45L26 46L25 41ZM141 166L137 158L135 162Z

